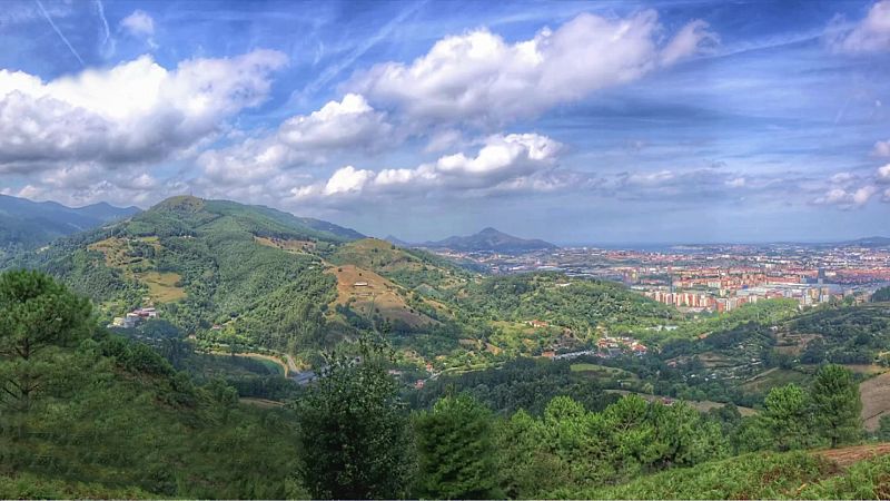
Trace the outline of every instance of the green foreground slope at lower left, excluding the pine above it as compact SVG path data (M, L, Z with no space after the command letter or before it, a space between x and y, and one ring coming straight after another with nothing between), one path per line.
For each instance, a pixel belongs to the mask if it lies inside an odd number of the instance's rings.
M27 435L0 434L0 498L294 495L286 480L298 450L284 411L196 386L113 336L61 356L68 382L24 416ZM7 430L12 418L0 420Z

